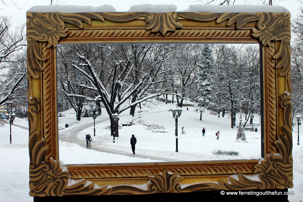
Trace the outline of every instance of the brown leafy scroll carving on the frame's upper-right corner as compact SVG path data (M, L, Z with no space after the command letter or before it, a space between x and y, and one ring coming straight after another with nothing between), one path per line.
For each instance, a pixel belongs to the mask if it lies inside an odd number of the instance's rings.
M227 25L236 23L236 28L240 29L248 22L257 22L257 26L252 28L255 38L259 38L263 45L273 46L274 41L281 41L281 46L273 56L279 59L276 68L283 68L280 75L285 76L290 72L290 14L289 13L178 13L184 18L211 21L217 19L217 23L228 20ZM290 78L288 84L290 84ZM288 89L290 90L290 89Z

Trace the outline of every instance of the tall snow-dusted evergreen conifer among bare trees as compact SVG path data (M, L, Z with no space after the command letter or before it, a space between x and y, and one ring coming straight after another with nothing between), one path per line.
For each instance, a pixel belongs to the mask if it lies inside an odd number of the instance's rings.
M198 62L198 72L197 72L197 98L195 107L199 112L203 112L204 108L212 104L213 100L213 75L214 72L214 58L212 55L212 50L209 44L204 44L201 59Z

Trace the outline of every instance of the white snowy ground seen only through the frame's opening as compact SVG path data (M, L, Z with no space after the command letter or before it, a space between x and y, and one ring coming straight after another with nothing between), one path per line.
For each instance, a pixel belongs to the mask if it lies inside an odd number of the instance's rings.
M235 142L237 127L233 129L230 127L230 118L218 118L217 115L209 114L209 111L203 113L202 121L199 120L200 114L194 111L194 107L183 107L181 116L178 118L178 151L176 151L176 136L175 136L175 119L169 109L175 107L173 104L164 104L158 101L143 102L142 109L137 108L135 117L129 114L126 110L122 112L119 117L119 124L133 122L134 125L124 126L119 130L119 138L113 143L113 137L110 136L110 130L106 129L110 126L108 114L103 111L100 116L96 118L97 121L102 121L95 125L96 136L93 136L93 126L86 127L79 131L78 134L67 135L68 130L74 131L76 128L81 128L80 124L75 124L72 127L65 128L59 131L59 139L78 143L79 141L85 143L85 135L92 134L92 149L106 149L111 151L114 149L120 154L132 154L130 138L132 134L137 138L136 155L134 158L125 158L121 162L117 162L116 158L106 158L100 161L101 157L91 158L90 161L85 158L78 158L83 156L82 150L75 144L69 144L74 148L73 152L65 151L61 147L66 147L68 144L59 143L60 160L66 164L84 164L84 163L137 163L136 156L143 154L149 156L151 160L139 162L156 162L154 160L162 161L209 161L209 160L226 160L226 159L257 159L261 157L261 127L259 124L259 117L255 118L258 132L245 131L248 142ZM188 111L187 111L188 108ZM138 113L138 111L142 111ZM59 127L65 123L72 123L75 120L75 114L70 114L71 110L65 112L65 117L60 117ZM74 112L75 113L75 112ZM258 116L258 115L256 115ZM139 118L140 117L140 118ZM93 118L81 118L81 121L92 123ZM61 124L62 123L62 124ZM144 125L145 124L145 125ZM163 129L148 130L148 124L156 124L162 126ZM236 119L236 125L239 124L239 119ZM181 127L184 126L185 134L181 134ZM202 128L205 127L205 137L202 137ZM250 126L251 127L251 126ZM161 131L161 132L153 132ZM164 131L164 132L163 132ZM219 140L217 140L215 133L220 131ZM66 137L68 136L68 138ZM238 156L226 156L212 154L214 150L227 150L239 152ZM95 156L95 155L94 155ZM76 158L77 157L77 158ZM163 159L162 159L163 158ZM165 158L165 159L164 159ZM154 160L152 160L154 159ZM83 161L82 161L83 160ZM89 162L88 162L89 161Z

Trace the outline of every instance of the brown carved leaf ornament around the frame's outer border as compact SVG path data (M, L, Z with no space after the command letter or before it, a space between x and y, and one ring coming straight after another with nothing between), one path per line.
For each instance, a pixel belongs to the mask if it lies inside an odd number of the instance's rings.
M146 30L153 33L161 33L161 36L171 35L182 31L183 25L179 18L193 21L212 21L221 23L227 20L227 25L236 24L232 33L238 33L245 24L256 22L252 28L252 36L258 38L267 47L276 47L273 55L275 68L281 68L280 76L285 76L285 93L281 96L284 125L283 134L277 134L273 145L279 154L271 152L265 154L259 164L253 167L253 173L258 174L259 180L251 180L244 174L238 173L238 179L228 178L228 182L219 180L218 183L196 183L187 186L179 183L185 177L181 176L181 170L175 169L175 173L166 169L158 169L148 176L145 189L132 185L117 185L99 187L92 182L72 180L69 171L62 170L60 161L53 158L45 160L45 154L49 146L45 145L45 139L39 138L42 134L37 127L37 112L40 111L41 100L32 96L32 79L40 78L37 71L43 71L42 61L46 60L39 45L46 42L46 48L55 47L60 38L68 36L65 23L83 28L83 22L91 24L91 20L114 22L126 22L137 18L145 18L148 23ZM192 33L188 33L192 34ZM210 35L216 36L216 33ZM269 189L291 188L292 180L292 134L291 134L291 101L290 101L290 14L289 13L190 13L190 12L125 12L125 13L27 13L27 40L28 40L28 117L30 125L29 153L30 153L30 195L31 196L63 196L72 194L151 194L161 192L191 192L199 190L236 190L236 189ZM280 98L279 98L280 99ZM225 169L225 168L219 168ZM233 167L226 168L234 169ZM222 171L222 170L221 170ZM122 171L121 171L122 172ZM132 172L132 171L130 171ZM135 172L135 171L133 171ZM195 169L188 172L197 172ZM219 171L209 171L218 174ZM224 173L224 171L222 171ZM138 171L140 173L140 171ZM230 172L229 172L230 173ZM147 188L146 188L147 187Z

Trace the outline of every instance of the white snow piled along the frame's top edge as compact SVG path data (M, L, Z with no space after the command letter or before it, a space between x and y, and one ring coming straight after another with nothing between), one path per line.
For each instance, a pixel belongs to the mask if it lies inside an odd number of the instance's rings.
M125 12L175 12L175 5L133 5ZM33 6L27 12L60 12L60 13L84 13L84 12L117 12L112 5L93 6L76 6L76 5L47 5ZM288 9L283 6L265 6L265 5L190 5L188 9L181 12L197 13L289 13Z

